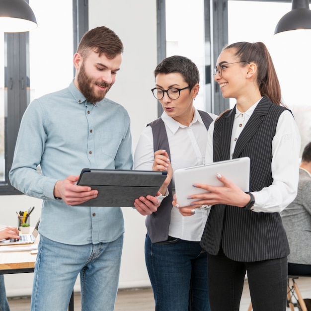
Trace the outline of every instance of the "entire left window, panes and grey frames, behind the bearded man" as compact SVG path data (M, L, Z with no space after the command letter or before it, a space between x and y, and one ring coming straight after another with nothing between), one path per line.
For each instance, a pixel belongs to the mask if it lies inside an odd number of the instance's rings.
M38 28L0 33L0 194L9 183L16 137L31 100L65 88L74 77L73 54L88 28L87 0L29 0Z

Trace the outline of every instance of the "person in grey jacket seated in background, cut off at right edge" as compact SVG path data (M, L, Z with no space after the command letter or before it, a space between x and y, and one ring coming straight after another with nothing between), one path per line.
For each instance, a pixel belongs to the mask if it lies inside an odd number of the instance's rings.
M303 152L296 199L281 217L291 251L288 275L311 275L311 142Z

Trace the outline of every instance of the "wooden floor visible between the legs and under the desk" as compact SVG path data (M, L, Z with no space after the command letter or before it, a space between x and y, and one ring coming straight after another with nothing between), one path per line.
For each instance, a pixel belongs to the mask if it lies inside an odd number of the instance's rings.
M311 298L311 278L299 278L297 281L303 298ZM14 298L8 300L11 311L29 311L30 298ZM240 311L247 311L250 303L247 280L244 284ZM75 294L74 298L75 311L81 310L80 296ZM119 290L115 311L154 311L155 303L151 288ZM290 309L287 308L287 311ZM295 310L298 311L297 308Z

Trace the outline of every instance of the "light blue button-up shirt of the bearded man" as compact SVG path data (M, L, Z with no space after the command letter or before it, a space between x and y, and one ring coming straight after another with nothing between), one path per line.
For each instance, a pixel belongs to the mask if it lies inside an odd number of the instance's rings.
M42 174L37 173L39 164ZM82 168L132 165L126 109L107 98L88 103L72 82L35 99L26 109L9 178L21 192L43 199L42 235L66 244L110 242L124 232L121 208L69 206L54 197L54 185Z

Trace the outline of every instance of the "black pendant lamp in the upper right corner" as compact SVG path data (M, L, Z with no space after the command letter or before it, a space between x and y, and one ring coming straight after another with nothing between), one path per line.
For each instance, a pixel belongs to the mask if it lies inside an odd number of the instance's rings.
M311 29L309 0L292 0L292 10L279 20L274 34L297 29Z

